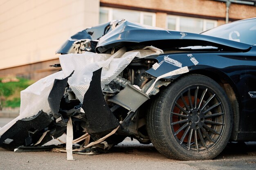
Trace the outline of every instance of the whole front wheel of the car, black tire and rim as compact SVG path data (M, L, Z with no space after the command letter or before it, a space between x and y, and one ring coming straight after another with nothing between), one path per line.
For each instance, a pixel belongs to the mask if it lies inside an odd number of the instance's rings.
M152 144L168 158L212 159L225 148L231 135L229 99L213 79L185 75L153 100L147 130Z

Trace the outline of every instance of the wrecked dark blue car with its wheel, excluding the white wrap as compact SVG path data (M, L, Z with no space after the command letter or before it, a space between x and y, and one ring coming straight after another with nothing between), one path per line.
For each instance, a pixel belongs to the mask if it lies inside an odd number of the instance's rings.
M109 144L132 137L142 144L152 142L168 158L212 159L229 141L256 141L254 44L256 18L201 34L152 29L126 20L85 29L57 53L112 55L124 47L134 51L146 46L160 52L134 57L104 87L101 69L94 71L83 101L76 99L69 77L56 80L48 98L54 123L47 127L65 131L72 117L75 135L86 131L97 141L119 126L106 139ZM11 139L10 134L3 136L1 147L20 145L2 143Z

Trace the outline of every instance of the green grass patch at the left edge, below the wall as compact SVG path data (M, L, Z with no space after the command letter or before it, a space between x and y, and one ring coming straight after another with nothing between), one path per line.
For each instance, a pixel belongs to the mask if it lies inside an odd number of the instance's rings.
M11 80L9 82L4 82L4 80L6 79L0 79L0 107L19 107L20 91L24 90L34 82L24 78L17 78L15 82L12 82Z

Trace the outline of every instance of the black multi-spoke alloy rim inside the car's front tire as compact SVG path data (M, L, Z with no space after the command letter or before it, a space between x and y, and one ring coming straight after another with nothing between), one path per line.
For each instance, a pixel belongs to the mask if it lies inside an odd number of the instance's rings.
M209 88L191 86L175 99L171 130L186 150L199 152L210 149L218 143L224 126L224 109L218 96Z

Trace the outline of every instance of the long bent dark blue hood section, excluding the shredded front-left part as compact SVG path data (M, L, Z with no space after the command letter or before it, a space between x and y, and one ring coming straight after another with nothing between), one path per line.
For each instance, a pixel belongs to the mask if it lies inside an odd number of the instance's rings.
M148 36L150 35L150 36ZM120 38L121 37L121 38ZM150 42L150 43L149 43ZM122 22L115 30L110 31L99 39L96 51L104 53L112 47L134 46L139 44L153 45L160 49L194 45L229 46L234 49L246 50L247 44L230 42L222 38L210 37L195 33L181 33L164 29L150 29L132 22Z

